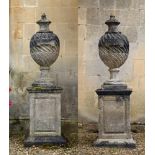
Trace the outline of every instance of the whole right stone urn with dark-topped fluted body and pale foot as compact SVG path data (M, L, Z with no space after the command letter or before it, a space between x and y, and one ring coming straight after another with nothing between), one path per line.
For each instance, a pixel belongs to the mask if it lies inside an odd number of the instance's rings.
M99 56L106 66L109 67L110 80L108 84L124 84L118 78L119 67L121 67L128 58L129 42L125 35L118 31L120 22L114 15L105 22L108 25L108 31L100 38L98 48Z

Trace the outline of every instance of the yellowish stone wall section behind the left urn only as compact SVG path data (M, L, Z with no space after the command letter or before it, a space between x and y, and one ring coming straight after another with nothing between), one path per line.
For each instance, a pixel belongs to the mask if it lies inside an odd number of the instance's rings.
M60 55L51 66L51 76L64 89L62 117L77 119L77 0L10 0L10 119L29 116L26 88L40 74L29 43L44 12L52 21L50 29L60 39Z

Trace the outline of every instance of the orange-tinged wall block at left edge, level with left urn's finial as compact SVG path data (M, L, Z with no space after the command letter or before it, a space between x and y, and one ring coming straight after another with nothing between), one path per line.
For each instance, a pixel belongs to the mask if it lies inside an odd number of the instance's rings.
M11 8L10 18L14 22L34 23L35 22L35 9L34 8Z

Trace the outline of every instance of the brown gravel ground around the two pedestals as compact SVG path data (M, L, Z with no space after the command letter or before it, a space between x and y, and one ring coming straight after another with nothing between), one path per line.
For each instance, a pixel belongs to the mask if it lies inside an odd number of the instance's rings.
M10 155L144 155L144 133L133 133L137 142L135 149L128 148L96 148L92 147L97 133L83 126L79 128L78 145L71 143L67 147L41 146L24 148L24 136L10 137Z

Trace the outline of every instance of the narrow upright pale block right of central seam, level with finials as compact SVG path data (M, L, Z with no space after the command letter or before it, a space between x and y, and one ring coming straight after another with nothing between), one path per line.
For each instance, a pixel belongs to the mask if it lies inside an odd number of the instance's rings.
M86 24L86 8L78 8L78 24Z

